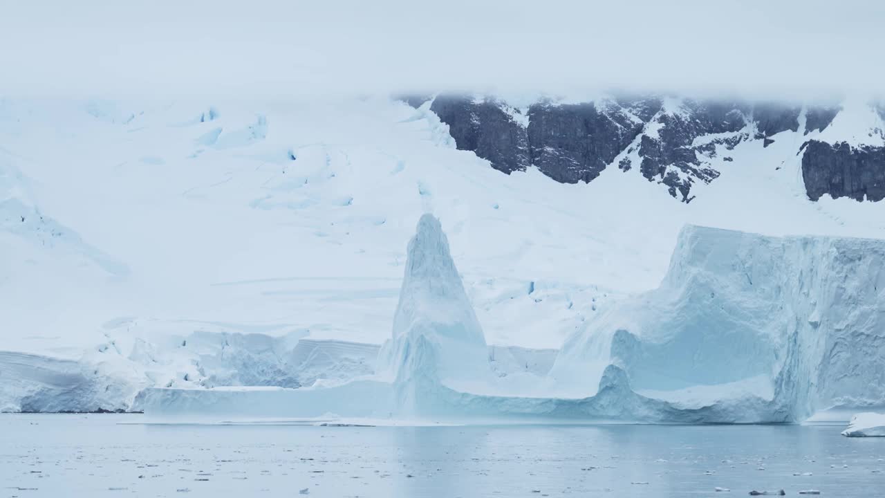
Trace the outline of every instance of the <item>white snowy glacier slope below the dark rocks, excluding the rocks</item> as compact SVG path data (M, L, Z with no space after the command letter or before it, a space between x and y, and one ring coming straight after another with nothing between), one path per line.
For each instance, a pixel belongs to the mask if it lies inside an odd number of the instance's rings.
M685 205L639 167L620 169L622 157L590 183L537 167L504 175L458 151L429 107L0 101L0 348L119 357L147 365L152 385L294 385L273 369L298 340L389 338L403 242L426 212L445 224L486 341L528 348L558 348L658 285L686 222L885 235L885 204L807 198L797 151L818 130L705 157L719 175ZM205 344L191 339L207 331ZM250 334L266 338L231 339Z

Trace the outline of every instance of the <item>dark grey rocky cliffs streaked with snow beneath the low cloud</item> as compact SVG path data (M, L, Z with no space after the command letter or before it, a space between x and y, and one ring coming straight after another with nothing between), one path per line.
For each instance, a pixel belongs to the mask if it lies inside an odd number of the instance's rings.
M422 105L426 98L409 98ZM542 100L515 108L495 97L443 95L430 110L449 125L458 149L473 151L504 173L537 167L560 183L591 182L606 168L638 168L683 202L692 188L720 176L738 144L767 148L783 132L803 155L809 198L823 194L880 200L885 184L881 120L885 107L795 105L681 97L603 97L564 103ZM830 128L831 123L836 125ZM844 122L843 122L844 121ZM849 128L858 128L853 133ZM826 133L825 133L826 132ZM862 146L858 146L858 136ZM874 138L871 142L870 138ZM766 161L778 167L787 158Z

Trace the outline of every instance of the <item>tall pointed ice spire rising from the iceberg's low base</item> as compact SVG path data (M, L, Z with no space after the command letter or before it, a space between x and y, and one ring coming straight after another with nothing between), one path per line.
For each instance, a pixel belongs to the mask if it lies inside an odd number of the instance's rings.
M400 383L458 384L489 373L485 336L432 214L421 216L409 242L392 340L380 362Z

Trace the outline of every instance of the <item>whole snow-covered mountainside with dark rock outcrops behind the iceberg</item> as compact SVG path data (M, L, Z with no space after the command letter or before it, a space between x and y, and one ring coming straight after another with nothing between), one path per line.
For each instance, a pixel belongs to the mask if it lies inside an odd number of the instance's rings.
M656 287L686 223L885 237L855 200L885 169L865 101L410 102L0 102L0 408L65 409L34 401L65 378L126 393L67 409L128 409L143 385L366 375L428 212L498 376Z

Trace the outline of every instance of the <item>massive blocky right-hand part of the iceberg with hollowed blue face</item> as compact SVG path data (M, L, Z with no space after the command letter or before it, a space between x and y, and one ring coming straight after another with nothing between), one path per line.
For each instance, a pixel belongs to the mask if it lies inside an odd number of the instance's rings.
M883 264L881 240L689 226L660 287L576 333L552 374L592 384L611 362L657 399L753 394L771 422L879 405Z

